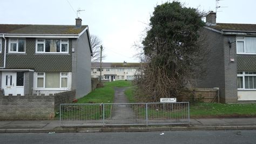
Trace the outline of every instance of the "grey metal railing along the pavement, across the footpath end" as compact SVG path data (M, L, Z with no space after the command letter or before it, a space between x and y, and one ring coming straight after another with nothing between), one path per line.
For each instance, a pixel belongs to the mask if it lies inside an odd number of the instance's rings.
M189 125L189 102L60 104L60 126Z

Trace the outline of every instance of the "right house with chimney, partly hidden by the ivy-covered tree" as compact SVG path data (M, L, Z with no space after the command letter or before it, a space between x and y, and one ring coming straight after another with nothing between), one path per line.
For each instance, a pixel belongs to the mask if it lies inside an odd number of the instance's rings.
M198 86L219 87L221 102L255 102L256 24L216 23L212 11L203 32L210 53Z

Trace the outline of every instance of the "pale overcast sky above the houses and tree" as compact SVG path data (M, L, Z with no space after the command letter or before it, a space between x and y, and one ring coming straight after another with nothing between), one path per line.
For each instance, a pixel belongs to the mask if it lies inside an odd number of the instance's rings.
M143 30L158 0L0 0L1 24L75 24L76 10L91 35L102 39L104 62L138 62L134 42ZM172 2L172 1L170 1ZM186 7L215 11L215 0L180 0ZM71 6L70 6L71 5ZM256 24L255 0L223 0L217 11L217 23Z

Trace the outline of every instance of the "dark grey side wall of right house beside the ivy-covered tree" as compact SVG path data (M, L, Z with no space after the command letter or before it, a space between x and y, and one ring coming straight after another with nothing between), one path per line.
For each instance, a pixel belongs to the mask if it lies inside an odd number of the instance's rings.
M225 102L225 72L224 72L224 46L223 35L208 29L203 30L206 33L206 43L208 61L206 74L198 81L199 88L220 88L220 100Z

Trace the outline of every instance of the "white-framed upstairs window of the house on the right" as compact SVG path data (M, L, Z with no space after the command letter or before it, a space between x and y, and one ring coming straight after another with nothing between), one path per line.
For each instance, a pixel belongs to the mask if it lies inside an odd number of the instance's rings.
M238 54L256 54L256 37L237 37Z

